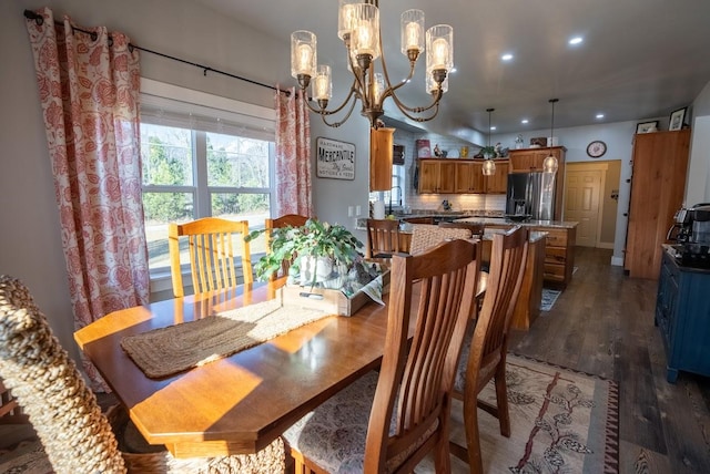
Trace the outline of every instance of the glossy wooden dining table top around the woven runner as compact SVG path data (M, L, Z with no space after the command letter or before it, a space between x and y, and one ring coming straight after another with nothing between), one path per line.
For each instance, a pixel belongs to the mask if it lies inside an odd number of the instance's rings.
M327 316L161 380L146 377L121 340L272 299L282 285L256 282L115 311L74 339L149 443L164 444L176 457L255 453L379 364L386 306L371 301L352 317Z

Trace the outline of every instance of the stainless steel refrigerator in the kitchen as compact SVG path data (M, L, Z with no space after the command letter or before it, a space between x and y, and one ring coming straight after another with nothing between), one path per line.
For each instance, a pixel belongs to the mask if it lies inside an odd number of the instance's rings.
M555 176L557 173L510 173L506 214L530 216L536 220L555 218Z

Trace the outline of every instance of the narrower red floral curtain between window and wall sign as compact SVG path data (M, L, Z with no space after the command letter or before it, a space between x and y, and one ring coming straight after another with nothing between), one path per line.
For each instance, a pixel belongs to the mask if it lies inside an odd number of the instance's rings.
M302 94L276 90L276 208L284 214L313 215L311 196L311 122Z

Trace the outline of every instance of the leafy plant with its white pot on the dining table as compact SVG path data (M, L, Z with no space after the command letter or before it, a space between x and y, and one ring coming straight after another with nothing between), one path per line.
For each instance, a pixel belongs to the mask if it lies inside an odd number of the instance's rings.
M254 230L246 237L256 238L265 230ZM288 282L318 288L341 289L354 264L362 259L363 247L349 230L339 224L331 225L308 219L302 227L272 229L271 251L255 265L256 278L268 279L292 261Z

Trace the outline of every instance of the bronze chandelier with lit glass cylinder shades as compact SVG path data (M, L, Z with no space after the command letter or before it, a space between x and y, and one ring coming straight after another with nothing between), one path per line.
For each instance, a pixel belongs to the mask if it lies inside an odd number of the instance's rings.
M427 122L436 116L442 95L448 89L447 74L454 65L454 29L448 24L436 24L424 34L424 12L407 10L402 13L402 53L409 60L409 74L393 84L387 74L387 64L382 48L379 9L377 0L341 0L338 10L338 37L345 43L348 70L353 84L341 105L327 110L333 97L333 79L329 65L317 64L316 35L311 31L291 34L291 75L298 81L302 93L312 85L312 96L317 106L306 101L308 109L321 115L323 122L333 127L341 126L353 113L355 103L362 103L361 114L369 120L373 128L384 114L383 103L392 97L397 109L415 122ZM426 49L425 49L426 42ZM419 55L426 51L426 92L432 95L428 105L412 107L404 104L396 91L414 75ZM382 72L376 72L379 59ZM349 104L349 107L347 107ZM347 107L347 109L346 109ZM343 112L345 111L346 112ZM327 116L344 113L341 121L328 122Z

